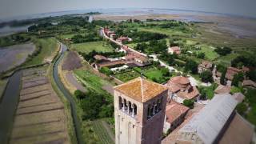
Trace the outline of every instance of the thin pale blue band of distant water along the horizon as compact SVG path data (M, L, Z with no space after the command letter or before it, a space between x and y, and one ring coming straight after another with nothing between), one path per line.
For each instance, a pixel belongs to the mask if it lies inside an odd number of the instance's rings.
M173 11L184 11L184 12L194 12L194 13L205 13L205 14L218 14L218 15L225 15L225 16L232 16L232 17L240 17L240 18L253 18L256 19L256 15L253 16L247 16L242 14L230 14L230 13L221 13L221 12L214 12L214 11L202 11L202 10L182 10L182 9L169 9L169 8L136 8L136 7L120 7L120 8L95 8L95 9L77 9L77 10L59 10L59 11L49 11L49 12L42 12L42 13L34 13L34 14L21 14L17 16L10 16L7 18L0 18L0 22L10 22L15 20L26 20L26 19L33 19L28 17L38 16L40 14L45 14L46 16L38 17L38 18L46 18L46 17L55 17L55 16L62 16L62 15L68 15L68 14L59 14L58 13L70 13L70 14L86 14L90 12L100 12L98 10L132 10L132 9L144 9L144 10L173 10ZM88 11L87 11L88 10ZM77 13L78 11L81 11L80 13ZM82 12L83 11L83 12ZM76 12L76 13L72 13ZM107 14L106 12L100 12L102 14ZM48 14L48 15L47 15ZM50 15L50 14L57 14L57 15ZM162 13L165 14L165 13ZM37 17L34 17L37 18Z

